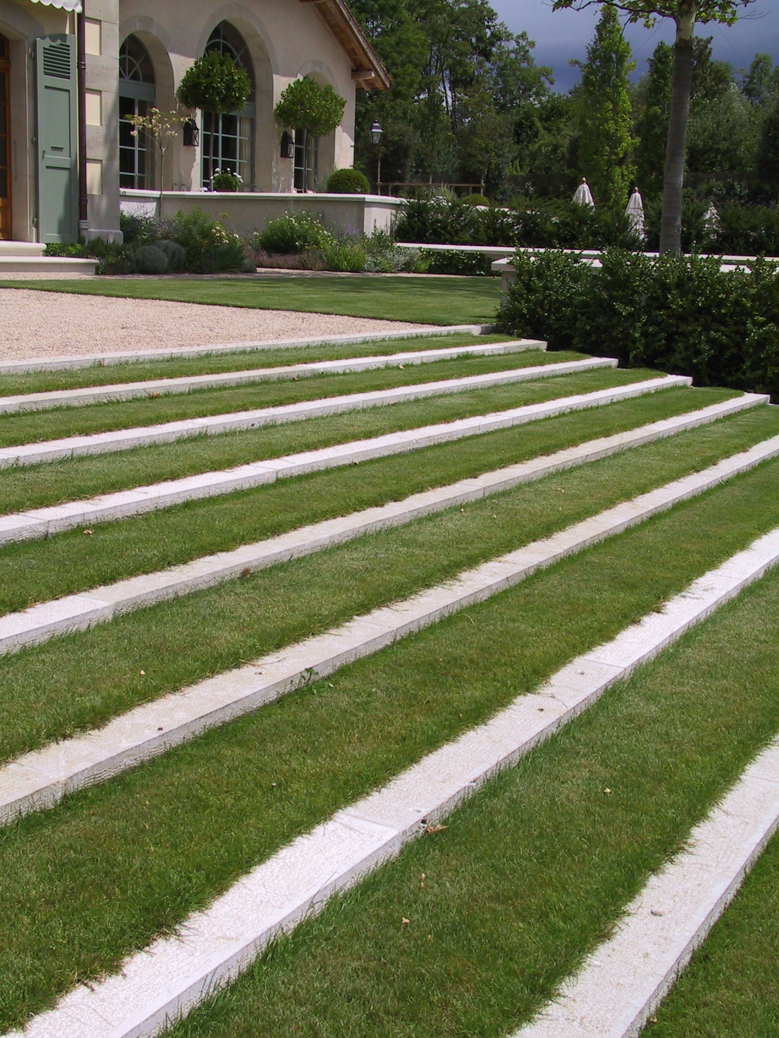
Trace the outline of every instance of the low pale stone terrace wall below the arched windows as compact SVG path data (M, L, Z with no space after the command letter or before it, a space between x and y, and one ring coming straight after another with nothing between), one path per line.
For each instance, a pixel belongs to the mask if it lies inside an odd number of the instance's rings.
M158 191L123 189L120 192L119 204L125 213L156 216L159 203ZM323 219L329 230L361 237L376 228L392 230L402 204L400 198L386 195L165 191L162 216L172 217L179 211L190 213L199 208L214 219L222 219L229 230L248 236L289 210L307 210Z

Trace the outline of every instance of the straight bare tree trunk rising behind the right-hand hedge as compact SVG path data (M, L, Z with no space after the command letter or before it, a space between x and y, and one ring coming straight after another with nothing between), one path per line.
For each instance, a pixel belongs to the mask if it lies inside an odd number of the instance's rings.
M696 4L683 4L676 22L671 81L671 114L668 120L666 174L663 183L663 218L660 251L681 251L681 187L684 179L684 145L690 115L690 81L693 73L693 29Z

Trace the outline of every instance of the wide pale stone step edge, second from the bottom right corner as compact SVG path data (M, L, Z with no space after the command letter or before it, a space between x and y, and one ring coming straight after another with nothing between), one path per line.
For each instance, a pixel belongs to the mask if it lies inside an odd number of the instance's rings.
M356 885L396 857L404 844L446 818L499 771L777 562L779 529L774 529L695 580L661 612L648 613L612 641L575 658L536 692L517 696L491 720L444 744L382 789L276 851L209 908L190 916L176 935L158 938L126 959L120 973L70 991L54 1009L29 1022L25 1038L159 1034L246 969L274 937L317 914L333 894ZM776 801L775 772L773 786ZM558 1029L548 1034L560 1038L574 1033ZM609 1032L610 1038L612 1034L617 1032ZM20 1035L16 1032L15 1038Z

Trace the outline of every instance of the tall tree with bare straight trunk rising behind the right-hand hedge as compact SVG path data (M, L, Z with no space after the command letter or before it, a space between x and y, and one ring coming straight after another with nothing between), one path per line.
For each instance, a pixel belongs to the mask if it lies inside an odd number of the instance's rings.
M582 9L602 0L554 0L553 7ZM666 166L663 179L663 218L661 252L681 251L681 189L684 176L684 146L690 115L690 86L693 72L693 34L695 23L720 22L732 25L740 7L754 0L615 0L614 5L627 15L628 22L641 22L652 28L659 18L672 19L676 26L673 48L671 111L668 120Z

